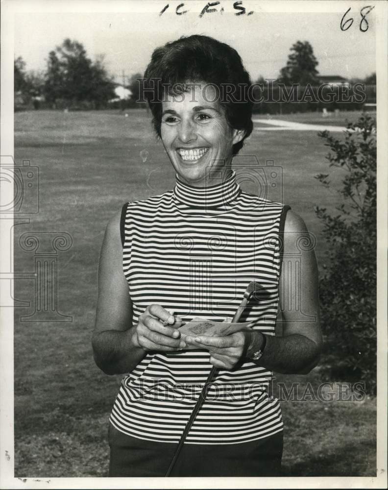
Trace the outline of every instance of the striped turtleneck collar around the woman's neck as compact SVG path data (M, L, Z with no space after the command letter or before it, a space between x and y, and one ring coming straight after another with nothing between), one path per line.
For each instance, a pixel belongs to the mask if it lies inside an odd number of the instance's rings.
M234 170L228 179L208 187L194 187L186 184L176 175L173 194L178 201L187 206L218 207L232 202L240 194L240 186L236 182Z

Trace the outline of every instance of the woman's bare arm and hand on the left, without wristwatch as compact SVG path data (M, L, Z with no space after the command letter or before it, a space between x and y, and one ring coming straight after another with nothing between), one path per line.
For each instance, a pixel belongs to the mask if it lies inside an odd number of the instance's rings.
M92 337L97 366L106 374L132 371L150 350L174 351L181 348L180 333L174 319L160 305L150 305L132 323L132 302L122 270L120 237L121 213L109 221L98 265L96 324ZM170 325L163 325L167 321Z

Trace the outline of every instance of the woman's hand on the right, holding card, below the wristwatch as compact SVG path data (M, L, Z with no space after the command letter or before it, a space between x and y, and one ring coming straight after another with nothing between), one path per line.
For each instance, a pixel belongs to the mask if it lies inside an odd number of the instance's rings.
M250 343L250 332L240 331L225 337L198 335L186 337L185 342L210 352L210 363L216 368L233 369L242 359Z

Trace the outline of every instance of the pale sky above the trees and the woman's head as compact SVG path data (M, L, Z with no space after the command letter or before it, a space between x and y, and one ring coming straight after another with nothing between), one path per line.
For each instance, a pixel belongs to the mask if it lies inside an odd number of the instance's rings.
M169 8L161 16L159 12L168 0L143 2L149 12L142 12L145 8L142 9L139 2L122 2L120 5L126 12L118 11L118 2L114 2L115 8L111 11L108 4L104 12L98 12L101 5L97 0L75 3L84 11L52 12L51 8L51 11L41 9L16 14L14 54L23 57L26 70L45 70L49 51L69 37L81 42L92 59L104 54L108 72L121 82L123 71L125 77L143 73L157 46L182 35L205 34L237 49L253 80L259 75L275 78L286 65L290 48L297 40L312 44L321 75L364 78L376 71L376 19L373 11L369 13L368 30L362 32L359 28L361 4L355 2L337 2L336 12L297 12L296 7L290 9L292 2L288 7L290 12L271 12L270 7L264 8L267 4L243 1L246 12L236 16L233 1L222 0L217 12L206 13L202 18L199 12L206 1L186 1L180 11L186 9L188 12L176 15L175 9L182 1L170 0ZM276 3L273 2L272 7ZM322 10L327 5L317 3L320 8L315 10ZM345 20L352 17L354 23L342 31L341 18L349 4L355 6ZM301 8L314 10L309 8L311 5L306 1ZM224 12L220 13L222 6ZM248 16L248 11L253 13Z

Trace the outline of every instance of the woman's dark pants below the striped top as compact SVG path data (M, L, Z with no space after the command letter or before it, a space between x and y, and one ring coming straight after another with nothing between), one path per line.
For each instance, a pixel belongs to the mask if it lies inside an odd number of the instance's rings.
M110 424L109 476L164 476L177 443L126 436ZM241 444L184 444L170 476L280 476L283 432Z

